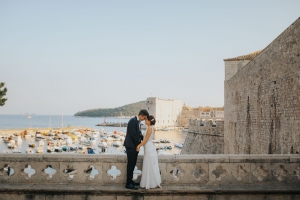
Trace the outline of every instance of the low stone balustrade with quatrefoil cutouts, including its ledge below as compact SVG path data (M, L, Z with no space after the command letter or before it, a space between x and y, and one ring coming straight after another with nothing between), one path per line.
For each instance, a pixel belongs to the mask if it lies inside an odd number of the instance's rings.
M143 170L142 159L138 157L136 182ZM300 197L300 157L296 155L159 155L158 161L162 188L132 191L125 189L124 154L0 154L0 199L276 200ZM49 167L55 170L54 174L46 170ZM90 167L92 172L88 170ZM98 174L92 176L94 170ZM29 172L34 173L29 175Z

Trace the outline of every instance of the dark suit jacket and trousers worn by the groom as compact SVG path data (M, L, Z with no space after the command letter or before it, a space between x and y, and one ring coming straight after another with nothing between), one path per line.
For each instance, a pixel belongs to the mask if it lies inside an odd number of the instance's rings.
M137 117L129 120L127 125L127 132L124 141L127 154L127 184L132 183L133 170L136 165L138 153L136 147L141 142L140 124Z

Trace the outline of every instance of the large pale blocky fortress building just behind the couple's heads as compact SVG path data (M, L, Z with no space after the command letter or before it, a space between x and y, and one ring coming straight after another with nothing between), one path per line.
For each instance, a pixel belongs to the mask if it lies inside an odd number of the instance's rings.
M156 128L178 126L183 103L181 100L160 99L149 97L146 100L146 109L156 119Z

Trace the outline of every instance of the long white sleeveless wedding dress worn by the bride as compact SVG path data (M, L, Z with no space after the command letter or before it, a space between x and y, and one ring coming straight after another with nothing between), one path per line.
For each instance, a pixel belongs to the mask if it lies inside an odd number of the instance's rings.
M150 135L147 143L144 145L144 160L142 168L142 178L140 182L140 187L145 189L161 187L161 178L158 167L156 147L152 142L154 127L151 127L152 134ZM147 130L144 133L144 138L146 137Z

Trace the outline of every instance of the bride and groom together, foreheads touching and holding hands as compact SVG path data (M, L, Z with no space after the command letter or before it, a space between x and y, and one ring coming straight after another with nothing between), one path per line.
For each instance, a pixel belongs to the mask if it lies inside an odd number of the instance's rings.
M140 122L145 120L148 126L144 134L141 132ZM161 178L158 168L158 160L156 148L152 142L154 135L155 118L150 115L147 110L141 110L139 114L131 118L127 125L127 133L124 141L127 154L127 181L126 188L137 190L139 185L141 188L157 188L161 187ZM132 180L133 170L140 151L140 147L144 146L144 160L142 168L142 178L140 183Z

